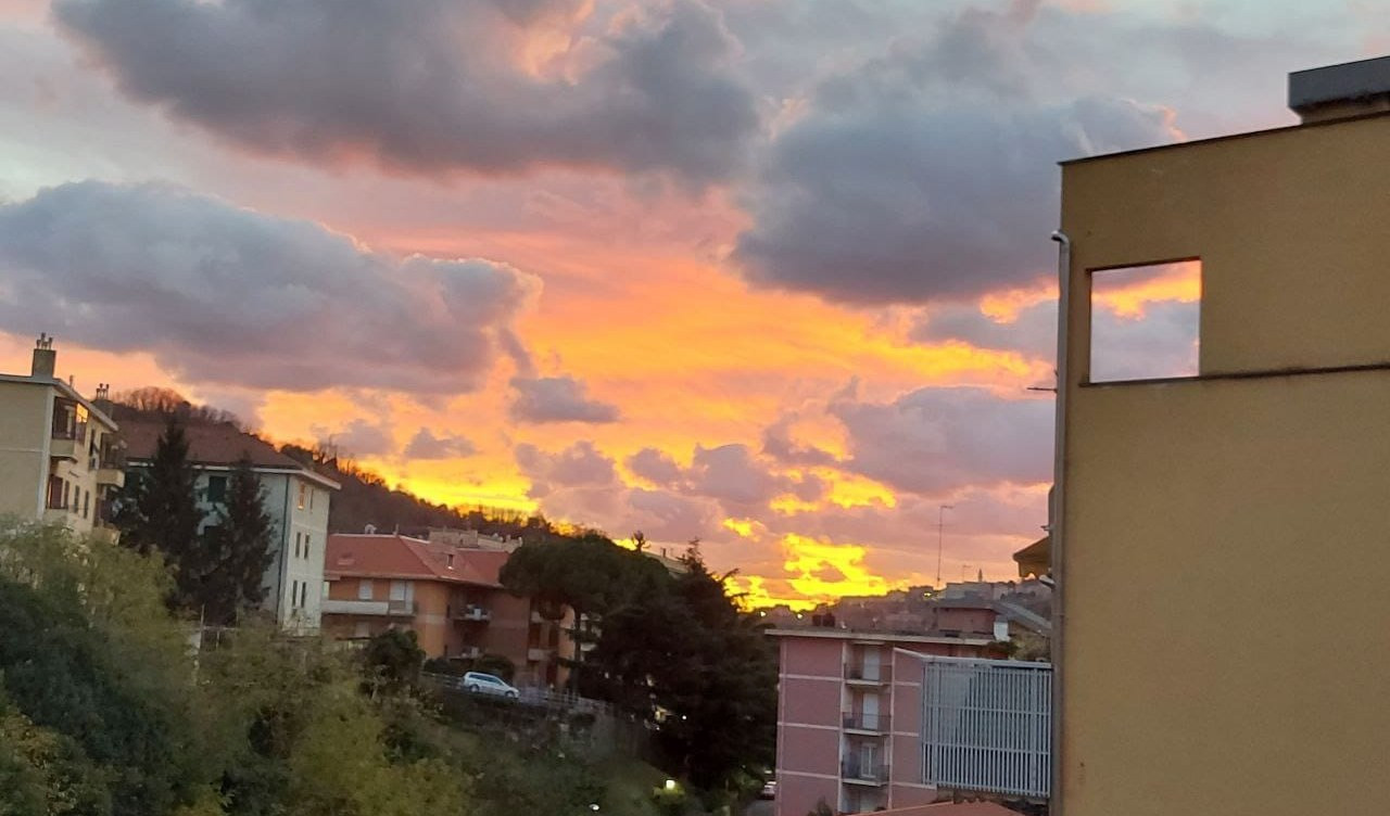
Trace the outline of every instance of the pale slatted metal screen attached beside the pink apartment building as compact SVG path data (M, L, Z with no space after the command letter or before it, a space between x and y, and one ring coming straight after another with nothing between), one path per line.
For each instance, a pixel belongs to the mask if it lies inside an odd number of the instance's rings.
M1052 773L1052 665L924 658L927 784L1047 798Z

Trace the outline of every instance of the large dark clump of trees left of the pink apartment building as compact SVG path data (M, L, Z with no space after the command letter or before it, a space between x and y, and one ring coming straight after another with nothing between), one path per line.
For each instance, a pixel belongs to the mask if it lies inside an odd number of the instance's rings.
M671 576L660 562L588 534L520 547L502 570L530 594L587 623L595 647L578 666L581 690L656 724L673 772L724 790L745 767L773 759L777 668L756 619L698 552Z

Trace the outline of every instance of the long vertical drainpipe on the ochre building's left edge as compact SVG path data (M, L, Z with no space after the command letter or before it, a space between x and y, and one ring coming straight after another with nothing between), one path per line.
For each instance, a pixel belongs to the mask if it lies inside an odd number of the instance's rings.
M1066 637L1066 579L1063 576L1066 547L1063 544L1063 513L1066 501L1066 389L1068 389L1068 323L1072 312L1072 239L1065 232L1052 233L1056 253L1056 432L1052 450L1052 518L1048 529L1052 570L1052 781L1048 812L1062 816L1062 638Z

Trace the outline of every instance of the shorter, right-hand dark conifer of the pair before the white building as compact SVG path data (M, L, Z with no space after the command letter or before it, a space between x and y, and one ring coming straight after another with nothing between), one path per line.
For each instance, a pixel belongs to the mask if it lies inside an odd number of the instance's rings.
M265 512L265 490L243 455L232 468L217 523L204 530L199 547L188 554L196 561L189 568L197 579L192 602L206 611L210 623L235 623L242 612L265 600L265 570L275 559L274 532Z

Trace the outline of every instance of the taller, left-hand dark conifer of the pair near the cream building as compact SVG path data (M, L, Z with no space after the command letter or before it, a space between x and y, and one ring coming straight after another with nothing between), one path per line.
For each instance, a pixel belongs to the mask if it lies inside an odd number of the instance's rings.
M196 473L188 461L188 437L178 415L170 414L147 468L133 469L115 511L121 544L142 555L160 552L174 569L177 588L171 601L188 606L196 583L197 527L203 512L195 494Z

